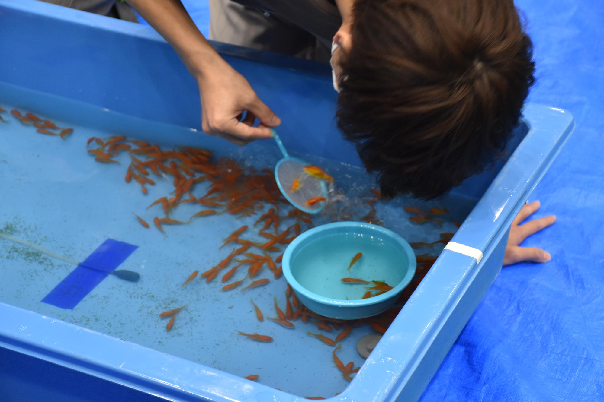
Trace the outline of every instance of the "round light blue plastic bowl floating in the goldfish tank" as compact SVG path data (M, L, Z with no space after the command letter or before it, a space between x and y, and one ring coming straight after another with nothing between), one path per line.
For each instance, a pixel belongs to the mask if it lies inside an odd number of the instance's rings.
M361 259L347 270L358 252L363 254ZM365 318L387 310L416 271L409 243L393 231L362 222L328 223L304 232L289 244L282 264L298 299L315 313L336 319ZM372 285L341 282L349 277L384 281L394 287L361 299L365 287Z

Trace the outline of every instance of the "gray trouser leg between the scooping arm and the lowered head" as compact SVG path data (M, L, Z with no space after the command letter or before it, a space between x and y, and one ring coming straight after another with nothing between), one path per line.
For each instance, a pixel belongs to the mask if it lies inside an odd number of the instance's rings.
M210 38L246 48L329 62L331 38L318 38L275 13L231 0L210 1ZM280 0L296 1L296 0ZM333 31L335 34L335 31Z

